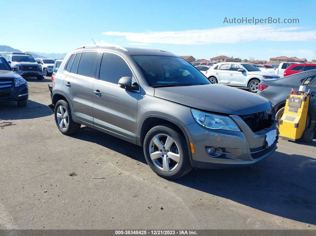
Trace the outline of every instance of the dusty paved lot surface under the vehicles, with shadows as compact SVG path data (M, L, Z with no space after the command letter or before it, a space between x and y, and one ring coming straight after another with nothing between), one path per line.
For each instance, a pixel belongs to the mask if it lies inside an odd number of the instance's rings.
M15 124L0 129L0 229L316 229L315 140L168 181L142 147L83 126L62 135L46 78L28 79L27 107L0 104Z

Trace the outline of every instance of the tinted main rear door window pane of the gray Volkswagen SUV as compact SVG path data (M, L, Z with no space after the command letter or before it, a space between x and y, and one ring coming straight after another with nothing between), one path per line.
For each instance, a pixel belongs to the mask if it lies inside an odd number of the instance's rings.
M94 77L95 62L98 52L83 52L78 65L78 75Z

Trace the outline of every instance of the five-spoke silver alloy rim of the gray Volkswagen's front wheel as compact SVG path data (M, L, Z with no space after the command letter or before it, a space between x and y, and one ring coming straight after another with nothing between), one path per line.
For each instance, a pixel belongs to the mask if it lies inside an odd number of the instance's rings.
M155 166L165 172L175 170L181 158L179 145L167 134L157 134L151 139L149 155Z

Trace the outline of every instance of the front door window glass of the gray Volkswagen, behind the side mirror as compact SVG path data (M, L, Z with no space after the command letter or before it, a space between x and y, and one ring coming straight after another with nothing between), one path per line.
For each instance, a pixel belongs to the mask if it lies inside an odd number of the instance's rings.
M100 80L118 84L119 79L125 76L132 78L131 69L126 62L118 55L103 53Z

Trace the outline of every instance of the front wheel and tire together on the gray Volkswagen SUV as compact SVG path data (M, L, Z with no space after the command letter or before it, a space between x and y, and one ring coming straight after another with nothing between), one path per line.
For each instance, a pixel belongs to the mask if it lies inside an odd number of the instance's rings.
M177 179L192 169L186 140L173 125L153 127L143 147L149 167L160 177Z

